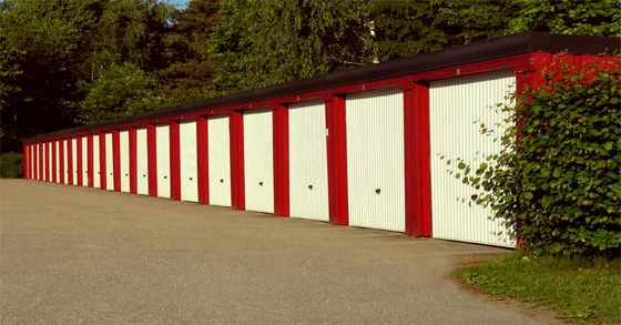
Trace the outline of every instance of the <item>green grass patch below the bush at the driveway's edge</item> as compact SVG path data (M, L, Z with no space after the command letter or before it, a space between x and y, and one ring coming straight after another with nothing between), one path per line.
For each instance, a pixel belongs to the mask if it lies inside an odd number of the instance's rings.
M573 323L621 323L621 261L531 256L468 263L452 275L466 286L557 311Z

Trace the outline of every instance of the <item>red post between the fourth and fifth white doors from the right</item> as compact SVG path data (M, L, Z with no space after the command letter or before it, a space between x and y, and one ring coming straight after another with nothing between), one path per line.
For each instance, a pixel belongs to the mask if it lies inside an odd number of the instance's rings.
M246 209L244 175L244 115L233 111L228 115L231 132L231 203L235 210Z

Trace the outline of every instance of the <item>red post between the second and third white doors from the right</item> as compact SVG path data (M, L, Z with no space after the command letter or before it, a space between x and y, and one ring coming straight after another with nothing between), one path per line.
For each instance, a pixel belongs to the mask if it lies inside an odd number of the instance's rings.
M349 225L347 205L347 129L345 121L345 98L325 95L326 125L328 128L328 193L329 222Z

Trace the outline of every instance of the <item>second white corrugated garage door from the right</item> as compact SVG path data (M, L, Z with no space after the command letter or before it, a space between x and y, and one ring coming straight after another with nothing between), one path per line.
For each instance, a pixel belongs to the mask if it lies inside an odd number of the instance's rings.
M345 105L349 224L405 232L403 91L353 93Z

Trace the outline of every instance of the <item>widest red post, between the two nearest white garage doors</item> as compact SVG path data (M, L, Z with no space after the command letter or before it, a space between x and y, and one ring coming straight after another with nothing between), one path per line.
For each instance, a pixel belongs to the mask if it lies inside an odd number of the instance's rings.
M406 235L431 236L429 88L408 82L404 90Z

